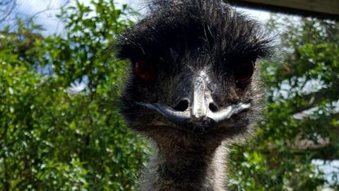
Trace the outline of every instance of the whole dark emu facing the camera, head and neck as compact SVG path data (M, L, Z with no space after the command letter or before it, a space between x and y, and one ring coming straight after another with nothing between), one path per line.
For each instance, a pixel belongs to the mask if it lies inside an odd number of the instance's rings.
M225 190L227 146L261 116L263 27L221 1L157 0L116 47L130 61L121 113L157 149L141 190Z

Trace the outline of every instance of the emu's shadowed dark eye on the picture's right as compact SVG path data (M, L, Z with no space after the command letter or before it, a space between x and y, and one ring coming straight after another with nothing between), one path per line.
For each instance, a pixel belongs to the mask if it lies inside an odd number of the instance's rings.
M250 62L249 64L241 64L235 67L234 79L239 88L244 88L249 81L251 81L254 72L254 63L255 62Z

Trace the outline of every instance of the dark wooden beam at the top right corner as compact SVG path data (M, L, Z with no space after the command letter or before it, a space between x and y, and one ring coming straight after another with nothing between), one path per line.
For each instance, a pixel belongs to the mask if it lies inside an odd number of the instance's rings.
M339 20L339 0L228 0L227 2L235 6Z

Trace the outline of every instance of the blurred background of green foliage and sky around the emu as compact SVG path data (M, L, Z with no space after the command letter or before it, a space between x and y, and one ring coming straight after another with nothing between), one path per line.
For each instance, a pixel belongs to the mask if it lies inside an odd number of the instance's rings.
M230 190L339 190L338 20L237 8L276 35L265 121L232 146ZM141 1L0 0L0 190L136 190L152 149L114 105L107 51Z

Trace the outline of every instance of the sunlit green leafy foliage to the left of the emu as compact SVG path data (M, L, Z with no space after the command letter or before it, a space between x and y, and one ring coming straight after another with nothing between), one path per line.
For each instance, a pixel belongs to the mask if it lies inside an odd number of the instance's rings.
M135 190L145 144L118 115L125 64L107 53L127 11L77 2L59 16L66 36L22 21L1 32L1 190Z

